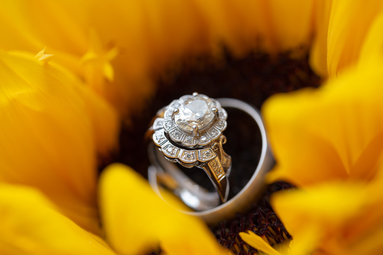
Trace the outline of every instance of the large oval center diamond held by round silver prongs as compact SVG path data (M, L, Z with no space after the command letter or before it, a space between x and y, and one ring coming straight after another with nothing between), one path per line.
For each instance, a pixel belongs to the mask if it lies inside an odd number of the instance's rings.
M211 110L213 107L215 107L214 103L202 96L187 99L179 108L180 112L174 115L175 123L186 131L192 131L192 125L197 125L198 130L203 130L214 119L214 113Z

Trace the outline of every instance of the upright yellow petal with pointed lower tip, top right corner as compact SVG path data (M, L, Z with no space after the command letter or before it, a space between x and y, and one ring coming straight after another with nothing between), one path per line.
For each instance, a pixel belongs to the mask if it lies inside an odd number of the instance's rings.
M327 37L330 77L357 62L368 29L382 6L380 0L333 1Z

